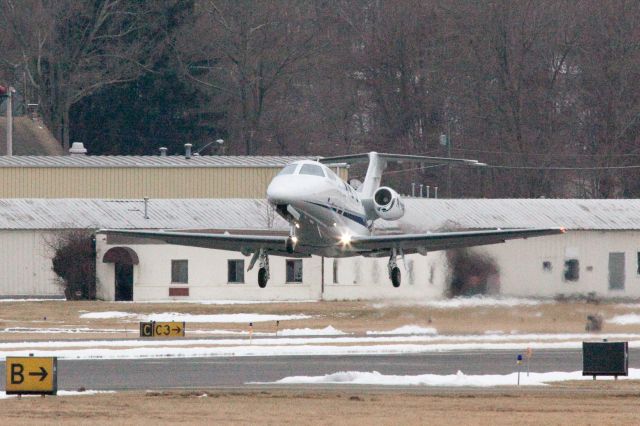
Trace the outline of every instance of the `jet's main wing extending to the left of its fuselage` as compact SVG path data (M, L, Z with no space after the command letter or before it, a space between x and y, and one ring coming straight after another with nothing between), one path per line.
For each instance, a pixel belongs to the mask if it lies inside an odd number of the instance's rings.
M239 234L211 234L195 232L169 231L128 231L102 229L98 231L109 236L131 238L128 243L143 239L149 242L164 242L181 246L203 247L219 250L255 253L260 249L268 252L286 252L287 237L271 235L239 235Z

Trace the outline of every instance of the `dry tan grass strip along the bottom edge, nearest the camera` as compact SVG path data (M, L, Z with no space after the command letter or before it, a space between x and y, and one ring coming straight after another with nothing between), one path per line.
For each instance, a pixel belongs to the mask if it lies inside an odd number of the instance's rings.
M623 384L624 383L624 384ZM344 388L171 391L0 400L2 422L33 424L640 424L638 382L491 390ZM206 396L203 396L206 395Z

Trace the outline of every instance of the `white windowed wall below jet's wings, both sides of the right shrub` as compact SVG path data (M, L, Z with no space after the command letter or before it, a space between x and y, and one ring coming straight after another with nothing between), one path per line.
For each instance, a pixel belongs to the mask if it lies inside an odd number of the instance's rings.
M97 273L99 296L114 297L113 264L101 262L109 246L104 236L98 240ZM387 276L387 259L338 259L338 282L333 283L333 259L303 260L303 283L285 283L285 259L270 257L271 279L266 289L258 288L257 268L245 273L245 284L227 283L227 260L243 258L239 253L171 245L132 245L140 258L134 268L135 300L358 300L396 299L433 300L441 298L449 281L443 252L426 257L406 257L407 268L400 261L402 285L393 288ZM512 296L553 297L558 294L596 292L610 297L640 297L637 231L573 231L564 235L512 240L505 244L473 250L492 256L499 266L501 293ZM625 253L625 288L609 290L608 259L610 252ZM580 278L564 280L564 261L580 262ZM169 297L172 286L171 259L189 260L189 296ZM244 257L245 266L249 258ZM542 267L550 261L551 271ZM173 285L176 286L176 285ZM176 286L179 287L179 286Z

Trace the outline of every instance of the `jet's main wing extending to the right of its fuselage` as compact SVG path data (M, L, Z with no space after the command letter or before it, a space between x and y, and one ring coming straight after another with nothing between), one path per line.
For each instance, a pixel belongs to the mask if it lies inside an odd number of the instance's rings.
M563 228L549 228L377 235L371 237L354 236L350 244L353 251L362 254L389 252L392 249L402 250L404 253L409 254L423 250L437 251L496 244L511 239L562 234L564 232Z

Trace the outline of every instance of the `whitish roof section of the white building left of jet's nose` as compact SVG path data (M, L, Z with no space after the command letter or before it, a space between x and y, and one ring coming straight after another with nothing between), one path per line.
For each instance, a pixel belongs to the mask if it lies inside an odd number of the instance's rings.
M0 229L288 229L265 200L2 199Z

